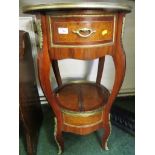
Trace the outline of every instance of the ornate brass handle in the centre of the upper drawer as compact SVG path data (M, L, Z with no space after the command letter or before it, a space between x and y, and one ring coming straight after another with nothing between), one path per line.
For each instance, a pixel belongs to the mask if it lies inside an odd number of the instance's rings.
M96 30L92 30L92 29L89 29L89 28L81 28L81 29L78 29L78 30L73 30L72 32L78 34L80 37L87 38L92 33L95 33ZM84 33L84 34L82 34L82 33ZM85 34L85 33L87 33L87 34Z

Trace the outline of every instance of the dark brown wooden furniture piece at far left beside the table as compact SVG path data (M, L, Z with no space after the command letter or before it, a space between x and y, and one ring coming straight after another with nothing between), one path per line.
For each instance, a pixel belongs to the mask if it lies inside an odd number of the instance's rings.
M37 90L29 34L19 31L19 113L28 155L36 155L42 110Z

